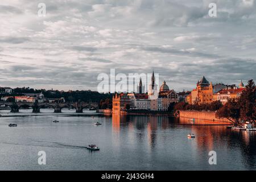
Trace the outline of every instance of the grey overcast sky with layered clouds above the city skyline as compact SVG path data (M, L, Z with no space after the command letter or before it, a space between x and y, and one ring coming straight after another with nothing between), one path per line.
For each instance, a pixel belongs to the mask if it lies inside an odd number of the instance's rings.
M178 91L256 78L253 0L1 0L0 19L0 86L97 90L110 68Z

